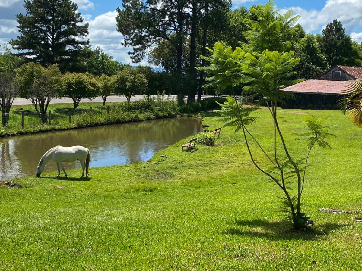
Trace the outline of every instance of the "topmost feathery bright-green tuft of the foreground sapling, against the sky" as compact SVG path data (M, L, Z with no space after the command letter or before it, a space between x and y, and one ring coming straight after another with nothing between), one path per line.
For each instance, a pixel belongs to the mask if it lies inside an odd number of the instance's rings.
M280 15L274 1L269 0L265 5L250 7L250 12L251 19L245 19L250 29L243 33L247 39L243 46L245 51L261 53L268 49L284 52L298 39L293 27L300 16L294 16L292 9Z

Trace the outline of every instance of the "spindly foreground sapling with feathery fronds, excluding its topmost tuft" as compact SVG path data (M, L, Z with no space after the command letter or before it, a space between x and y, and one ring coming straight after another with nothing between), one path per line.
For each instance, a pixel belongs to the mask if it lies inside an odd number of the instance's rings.
M212 86L224 89L231 86L233 90L233 87L237 85L249 83L248 86L244 86L245 91L262 96L262 101L266 103L274 126L273 155L269 155L265 151L247 128L248 124L256 120L256 117L251 117L250 113L256 110L257 107L244 108L234 96L234 99L229 97L226 103L220 104L221 110L216 112L222 114L221 120L225 122L225 126L236 126L235 132L239 130L243 132L245 144L253 164L283 191L285 196L283 201L287 207L283 211L289 212L295 229L303 229L309 223L309 218L301 211L301 196L307 159L315 143L321 147L328 147L325 138L332 135L327 133L328 126L323 126L323 121L312 120L311 125L308 125L310 132L302 134L308 142L307 158L292 159L278 124L277 103L281 102L287 95L285 91L281 90L282 88L302 81L291 79L295 74L292 70L298 65L299 59L294 58L293 51L279 53L265 50L262 53L251 54L243 52L241 48L236 48L235 51L231 47L225 49L222 44L215 44L215 51L211 50L211 53L211 57L205 57L211 63L210 66L199 68L211 75L211 77L207 78L210 83L205 87ZM281 142L281 150L277 146L277 138ZM250 140L255 141L265 155L270 164L269 168L264 168L254 159L249 143ZM291 180L294 180L294 182ZM291 186L293 187L291 188ZM291 193L294 193L295 190L297 192L293 196Z

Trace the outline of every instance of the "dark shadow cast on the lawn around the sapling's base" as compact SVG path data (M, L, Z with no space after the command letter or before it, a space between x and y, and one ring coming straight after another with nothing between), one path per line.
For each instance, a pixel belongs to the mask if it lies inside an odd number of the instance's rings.
M235 220L233 224L245 228L241 229L238 227L231 227L227 229L224 234L264 237L270 240L316 240L323 235L329 235L329 233L335 229L348 226L348 224L324 223L316 224L306 232L298 232L291 229L290 221L267 221L254 219Z

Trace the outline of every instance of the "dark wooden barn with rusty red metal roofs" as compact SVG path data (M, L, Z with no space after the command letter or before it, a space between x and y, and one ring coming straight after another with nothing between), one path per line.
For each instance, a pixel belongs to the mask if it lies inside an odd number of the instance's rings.
M339 109L340 95L352 80L362 80L362 67L335 65L316 79L282 89L294 94L282 108Z

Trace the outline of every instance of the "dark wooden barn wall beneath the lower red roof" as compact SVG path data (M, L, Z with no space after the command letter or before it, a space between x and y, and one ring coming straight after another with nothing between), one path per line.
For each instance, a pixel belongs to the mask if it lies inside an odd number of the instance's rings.
M339 109L339 95L295 93L294 98L285 100L282 108L298 109Z

